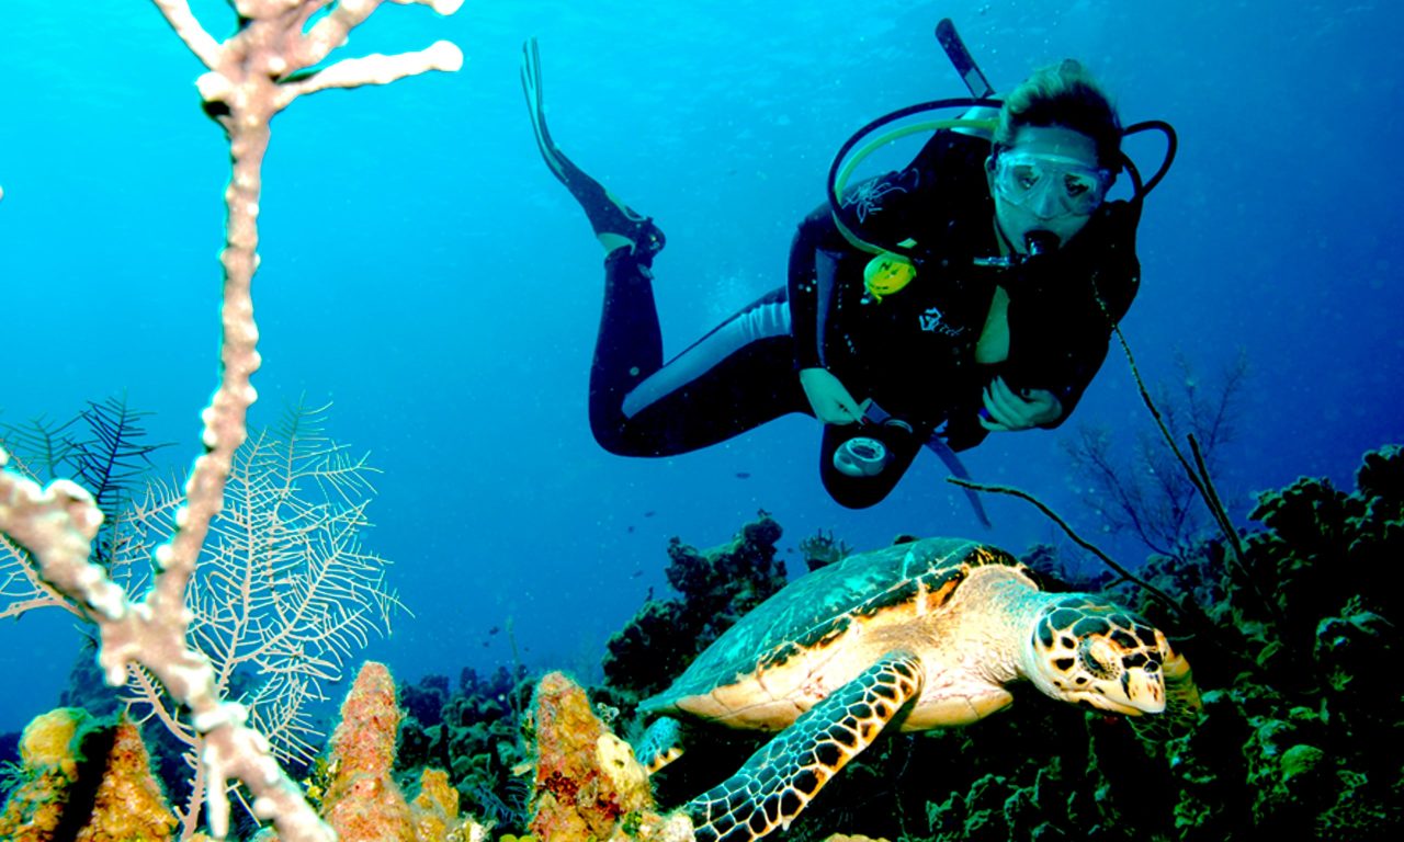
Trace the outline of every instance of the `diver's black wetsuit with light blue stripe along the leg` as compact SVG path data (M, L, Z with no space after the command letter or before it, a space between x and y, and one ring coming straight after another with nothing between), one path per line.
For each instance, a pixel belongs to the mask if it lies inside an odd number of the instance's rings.
M797 370L823 366L855 400L873 399L911 427L826 425L820 476L840 504L887 495L936 431L955 450L986 436L981 390L995 376L1077 406L1106 358L1111 319L1139 285L1140 206L1106 202L1064 247L1015 268L1000 254L986 180L988 140L938 132L904 170L845 196L869 241L917 241L917 278L882 302L863 288L872 254L851 246L824 205L799 227L789 283L741 309L664 365L651 272L628 250L605 261L605 305L590 380L590 422L608 450L668 456L695 450L789 413L813 414ZM995 286L1008 305L1008 356L977 363ZM1105 309L1104 309L1105 305ZM834 469L854 435L885 441L893 460L875 477Z

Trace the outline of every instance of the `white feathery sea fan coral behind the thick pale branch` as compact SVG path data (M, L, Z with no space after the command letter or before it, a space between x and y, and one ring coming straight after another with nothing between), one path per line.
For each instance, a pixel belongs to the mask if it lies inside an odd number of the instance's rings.
M403 608L385 584L388 561L362 544L373 469L323 434L324 414L293 408L234 452L187 601L216 689L237 697L284 762L312 761L324 734L307 706L327 699L326 685ZM174 484L152 483L133 546L170 533L178 498ZM126 700L185 742L195 765L199 734L160 683L138 674ZM197 775L187 822L198 817L202 783Z

